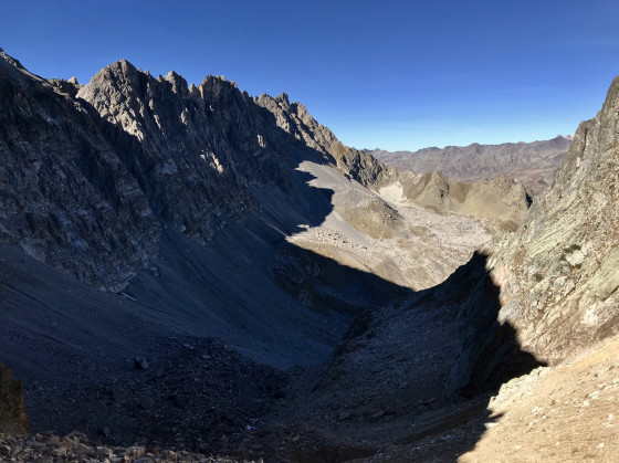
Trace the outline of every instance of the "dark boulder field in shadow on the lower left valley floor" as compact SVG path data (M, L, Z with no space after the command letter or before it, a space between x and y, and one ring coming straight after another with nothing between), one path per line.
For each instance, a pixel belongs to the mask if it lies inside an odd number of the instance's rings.
M218 340L160 343L159 357L127 359L120 370L101 368L91 381L29 382L32 431L80 429L98 444L232 452L271 403L285 397L283 373ZM253 453L251 446L244 451Z

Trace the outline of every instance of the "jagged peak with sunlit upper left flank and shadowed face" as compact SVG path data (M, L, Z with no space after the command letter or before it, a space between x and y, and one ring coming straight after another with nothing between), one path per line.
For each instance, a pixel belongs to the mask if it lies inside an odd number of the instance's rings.
M189 90L178 74L155 78L119 61L77 97L128 135L115 140L119 156L155 213L177 230L209 242L222 214L242 220L256 209L248 186L262 170L252 162L262 149L260 115L232 83L207 77Z

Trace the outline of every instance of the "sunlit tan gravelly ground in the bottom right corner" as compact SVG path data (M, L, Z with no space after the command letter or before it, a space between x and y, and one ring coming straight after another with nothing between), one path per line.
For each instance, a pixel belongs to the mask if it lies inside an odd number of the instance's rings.
M463 462L619 461L619 338L501 388ZM497 456L501 455L501 456Z

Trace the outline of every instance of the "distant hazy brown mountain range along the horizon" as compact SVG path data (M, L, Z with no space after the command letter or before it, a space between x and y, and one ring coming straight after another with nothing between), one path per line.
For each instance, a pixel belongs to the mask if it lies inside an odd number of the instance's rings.
M505 143L502 145L447 146L418 151L369 150L377 159L415 173L441 171L463 182L475 182L506 175L520 180L532 194L545 190L573 136L557 136L552 140Z

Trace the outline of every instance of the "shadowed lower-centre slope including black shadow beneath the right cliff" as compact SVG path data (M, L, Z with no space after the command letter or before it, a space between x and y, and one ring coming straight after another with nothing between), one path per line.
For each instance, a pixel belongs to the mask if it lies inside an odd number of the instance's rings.
M272 420L273 461L454 461L496 419L501 385L545 364L496 320L499 287L475 253L444 283L367 312L326 368ZM269 439L269 438L265 438Z

